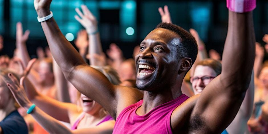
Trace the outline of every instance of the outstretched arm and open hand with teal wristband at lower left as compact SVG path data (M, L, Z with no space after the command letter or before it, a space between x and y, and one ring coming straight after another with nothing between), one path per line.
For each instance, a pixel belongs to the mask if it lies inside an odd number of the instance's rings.
M14 76L9 76L10 80L6 80L8 88L11 90L14 98L21 107L28 110L33 103L27 98L26 93L23 89L23 79L21 84L16 80ZM59 112L59 111L58 111ZM86 128L76 131L71 131L65 125L60 123L58 120L46 114L44 111L39 109L37 106L31 112L34 119L48 132L48 133L112 133L115 121L106 121L101 123L97 127Z

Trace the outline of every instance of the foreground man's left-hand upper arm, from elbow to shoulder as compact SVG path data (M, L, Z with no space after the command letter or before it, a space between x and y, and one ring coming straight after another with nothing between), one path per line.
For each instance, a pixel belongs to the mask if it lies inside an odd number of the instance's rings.
M111 84L100 71L88 66L76 66L68 76L65 76L82 94L100 103L109 112L114 110L113 101L116 101L117 86Z

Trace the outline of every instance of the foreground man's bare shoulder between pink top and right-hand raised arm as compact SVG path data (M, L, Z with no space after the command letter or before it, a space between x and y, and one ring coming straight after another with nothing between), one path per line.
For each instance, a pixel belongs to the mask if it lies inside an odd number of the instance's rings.
M200 94L190 97L174 109L170 117L173 132L182 130L183 127L190 123L190 116L199 96Z

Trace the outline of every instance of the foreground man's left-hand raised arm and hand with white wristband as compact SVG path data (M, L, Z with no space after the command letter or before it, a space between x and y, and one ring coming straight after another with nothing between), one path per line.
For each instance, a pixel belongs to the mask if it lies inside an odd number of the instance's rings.
M52 0L34 0L39 18L50 14ZM100 103L112 115L115 111L115 86L99 71L91 68L61 33L54 18L41 22L51 53L65 78L82 94ZM66 89L67 90L67 89Z

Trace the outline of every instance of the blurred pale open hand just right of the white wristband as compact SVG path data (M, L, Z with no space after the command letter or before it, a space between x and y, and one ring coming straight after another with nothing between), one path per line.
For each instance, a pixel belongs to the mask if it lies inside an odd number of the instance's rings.
M96 17L90 12L86 5L81 5L82 12L79 8L76 8L75 11L78 15L75 15L74 18L86 29L88 34L93 34L98 31L98 21Z

